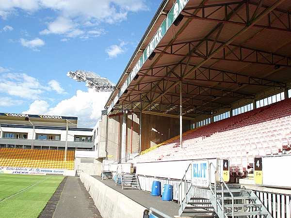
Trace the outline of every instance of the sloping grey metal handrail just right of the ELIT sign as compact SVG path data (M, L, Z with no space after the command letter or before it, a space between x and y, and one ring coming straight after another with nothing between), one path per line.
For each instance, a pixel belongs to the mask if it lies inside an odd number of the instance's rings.
M215 184L214 184L214 192L212 190L212 187L211 187L211 166L214 168L215 172L214 172L214 175L215 175ZM232 218L234 218L234 196L232 194L232 192L230 191L230 189L228 188L228 186L226 185L226 182L224 181L223 177L220 175L220 173L218 172L217 168L214 166L213 163L210 163L209 164L209 170L210 170L210 178L209 178L209 183L210 183L210 191L211 193L214 195L214 198L215 198L215 212L217 213L217 190L216 190L216 174L218 174L218 176L220 177L221 181L222 181L222 186L221 186L221 199L222 199L222 205L219 203L219 205L221 206L221 209L222 209L222 214L224 217L225 216L225 213L224 213L224 190L223 190L223 186L225 185L226 189L229 191L229 194L231 196L231 207L232 207ZM227 217L226 217L227 218Z

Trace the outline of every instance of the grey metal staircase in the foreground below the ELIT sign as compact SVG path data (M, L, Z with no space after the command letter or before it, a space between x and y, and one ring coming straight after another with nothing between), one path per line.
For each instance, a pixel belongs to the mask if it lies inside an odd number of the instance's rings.
M209 169L211 169L209 187L194 186L192 176L186 180L186 175L188 177L192 175L192 166L192 163L188 166L179 184L179 216L272 218L272 215L252 190L228 187L213 163L209 164ZM216 183L211 183L213 179Z

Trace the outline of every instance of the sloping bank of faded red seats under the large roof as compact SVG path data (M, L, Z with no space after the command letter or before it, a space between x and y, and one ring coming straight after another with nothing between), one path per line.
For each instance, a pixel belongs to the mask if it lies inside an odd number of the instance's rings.
M290 153L291 99L188 131L132 162L227 158L233 175L252 169L255 156Z

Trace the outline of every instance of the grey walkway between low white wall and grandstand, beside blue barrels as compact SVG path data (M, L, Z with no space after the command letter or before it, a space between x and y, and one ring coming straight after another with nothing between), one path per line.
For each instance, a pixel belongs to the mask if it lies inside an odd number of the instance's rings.
M134 189L122 189L121 186L115 186L112 180L101 180L100 176L94 176L96 179L104 183L105 185L112 187L116 191L126 195L131 200L138 202L146 208L153 207L157 210L162 211L168 216L174 217L178 215L179 206L176 202L165 202L162 201L161 197L151 196L149 192L143 190Z

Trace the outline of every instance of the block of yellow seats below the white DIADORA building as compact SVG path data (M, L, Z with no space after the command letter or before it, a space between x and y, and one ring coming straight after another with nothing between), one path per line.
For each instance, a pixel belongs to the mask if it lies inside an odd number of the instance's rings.
M75 151L0 148L0 166L74 169Z

